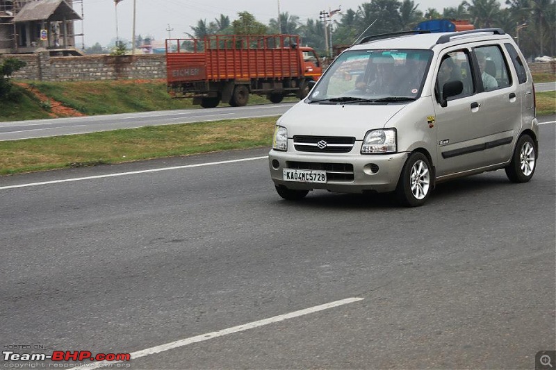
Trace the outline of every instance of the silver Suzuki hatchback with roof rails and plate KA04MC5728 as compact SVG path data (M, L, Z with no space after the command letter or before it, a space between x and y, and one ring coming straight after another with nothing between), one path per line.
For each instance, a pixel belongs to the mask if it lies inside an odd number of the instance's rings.
M534 86L499 28L363 38L277 121L278 194L395 192L423 205L441 181L505 169L525 183L537 163Z

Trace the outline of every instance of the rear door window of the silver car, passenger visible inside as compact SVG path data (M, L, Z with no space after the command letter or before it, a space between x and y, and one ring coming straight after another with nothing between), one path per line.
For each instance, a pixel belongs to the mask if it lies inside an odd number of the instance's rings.
M497 45L476 47L474 50L484 91L512 85L512 75L509 74L504 54Z

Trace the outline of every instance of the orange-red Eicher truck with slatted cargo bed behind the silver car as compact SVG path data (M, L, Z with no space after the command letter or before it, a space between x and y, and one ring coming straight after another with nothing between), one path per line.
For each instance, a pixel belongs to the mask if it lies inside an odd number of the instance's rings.
M167 90L214 108L245 106L250 94L279 103L303 99L322 74L317 53L297 35L208 35L166 40Z

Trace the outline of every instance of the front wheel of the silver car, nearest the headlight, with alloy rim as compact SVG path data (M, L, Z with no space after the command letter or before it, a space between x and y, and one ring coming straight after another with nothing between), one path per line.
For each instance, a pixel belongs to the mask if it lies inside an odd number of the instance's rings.
M406 207L425 204L432 192L433 174L427 156L420 152L411 153L402 168L395 190L398 202Z

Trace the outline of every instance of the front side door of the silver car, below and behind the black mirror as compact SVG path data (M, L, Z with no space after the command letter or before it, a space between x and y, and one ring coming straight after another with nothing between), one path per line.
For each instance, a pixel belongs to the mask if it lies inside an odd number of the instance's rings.
M439 56L434 87L434 112L438 140L436 176L450 176L477 168L484 163L484 110L477 101L470 49L447 49ZM449 74L449 75L448 75ZM463 91L442 106L445 83L461 81Z

